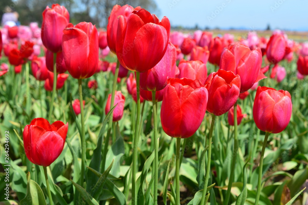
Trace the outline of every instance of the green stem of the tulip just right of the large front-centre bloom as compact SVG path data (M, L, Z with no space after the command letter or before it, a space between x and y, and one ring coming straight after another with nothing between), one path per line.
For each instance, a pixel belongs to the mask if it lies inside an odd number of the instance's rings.
M201 203L200 203L201 205L204 205L206 203L205 195L206 195L206 189L208 187L209 176L210 176L210 172L211 172L212 137L213 137L215 118L216 118L216 115L212 114L211 128L210 128L210 132L209 132L208 162L206 164L205 181L204 181L202 198L201 198Z

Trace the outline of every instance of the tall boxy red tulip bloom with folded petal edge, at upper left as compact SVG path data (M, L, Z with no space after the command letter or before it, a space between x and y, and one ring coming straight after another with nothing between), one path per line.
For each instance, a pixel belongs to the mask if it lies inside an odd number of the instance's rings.
M82 22L63 30L63 58L67 71L73 78L93 76L98 66L98 34L92 23Z

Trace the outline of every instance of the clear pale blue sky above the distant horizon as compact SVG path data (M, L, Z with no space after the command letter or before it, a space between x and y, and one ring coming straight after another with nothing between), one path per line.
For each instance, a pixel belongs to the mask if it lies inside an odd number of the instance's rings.
M172 26L308 31L307 0L155 0Z

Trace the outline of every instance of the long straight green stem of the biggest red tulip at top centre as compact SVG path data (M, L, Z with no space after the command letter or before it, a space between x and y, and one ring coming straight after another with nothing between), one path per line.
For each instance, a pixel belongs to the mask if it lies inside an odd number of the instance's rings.
M136 171L138 167L138 143L139 143L139 121L140 121L140 72L136 72L136 87L137 87L137 116L135 137L133 146L133 165L132 165L132 205L137 204L136 197Z

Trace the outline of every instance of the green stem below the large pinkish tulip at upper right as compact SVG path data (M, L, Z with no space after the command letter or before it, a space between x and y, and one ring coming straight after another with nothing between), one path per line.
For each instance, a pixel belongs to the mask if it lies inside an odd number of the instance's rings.
M232 188L232 183L233 183L233 178L234 178L234 169L235 169L235 162L237 158L237 150L238 150L238 141L237 141L237 101L233 106L233 120L234 120L234 144L233 144L233 157L232 157L232 162L231 162L231 172L230 172L230 177L229 177L229 182L228 182L228 190L227 190L227 195L225 198L224 205L229 204L229 199L231 195L231 188Z

